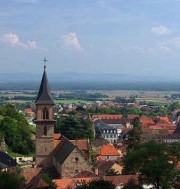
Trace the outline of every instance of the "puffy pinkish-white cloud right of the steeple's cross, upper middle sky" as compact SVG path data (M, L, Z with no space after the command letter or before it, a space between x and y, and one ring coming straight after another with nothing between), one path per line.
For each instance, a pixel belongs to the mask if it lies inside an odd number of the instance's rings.
M62 39L63 39L63 45L65 48L83 51L83 48L80 45L80 42L77 38L76 33L69 33L67 35L64 35Z

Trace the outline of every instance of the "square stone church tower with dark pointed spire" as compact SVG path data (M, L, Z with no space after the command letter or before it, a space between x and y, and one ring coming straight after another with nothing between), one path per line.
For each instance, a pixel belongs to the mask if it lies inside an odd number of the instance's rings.
M54 149L54 125L56 121L54 120L54 101L49 89L46 66L44 66L44 73L35 105L36 165L44 168L51 167L53 165L52 153Z

